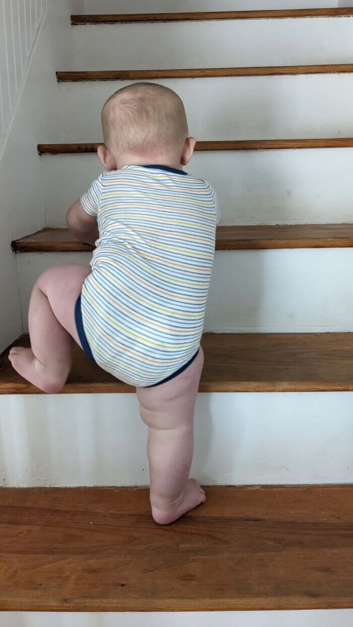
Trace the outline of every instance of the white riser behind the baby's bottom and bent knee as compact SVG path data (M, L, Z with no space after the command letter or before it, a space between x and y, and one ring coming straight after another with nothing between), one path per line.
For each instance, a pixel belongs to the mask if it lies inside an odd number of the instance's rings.
M21 253L24 328L31 288L49 266L89 253ZM353 331L353 248L218 251L206 308L214 332Z

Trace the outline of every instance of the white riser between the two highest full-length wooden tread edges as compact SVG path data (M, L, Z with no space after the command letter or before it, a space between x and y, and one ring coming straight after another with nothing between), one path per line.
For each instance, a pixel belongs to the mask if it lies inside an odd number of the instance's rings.
M73 29L75 56L60 70L142 70L347 63L353 18L98 24Z

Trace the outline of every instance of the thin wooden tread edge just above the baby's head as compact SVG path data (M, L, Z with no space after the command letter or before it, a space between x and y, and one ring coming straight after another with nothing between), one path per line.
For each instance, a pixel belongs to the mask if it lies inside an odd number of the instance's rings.
M199 68L183 70L98 70L58 71L58 82L83 82L107 80L149 80L152 78L211 78L222 76L283 76L295 74L352 73L353 63L335 65L281 65L249 68Z

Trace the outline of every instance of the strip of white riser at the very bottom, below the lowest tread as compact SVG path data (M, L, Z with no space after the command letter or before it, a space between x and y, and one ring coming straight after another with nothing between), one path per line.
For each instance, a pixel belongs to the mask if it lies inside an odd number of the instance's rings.
M3 612L1 627L351 627L353 609L256 612Z

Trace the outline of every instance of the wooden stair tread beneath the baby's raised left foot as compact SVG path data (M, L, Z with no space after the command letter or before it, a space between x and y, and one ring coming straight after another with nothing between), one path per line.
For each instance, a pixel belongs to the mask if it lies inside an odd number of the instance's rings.
M24 337L14 344L28 342ZM353 391L353 333L206 333L202 345L200 392ZM133 391L76 347L64 394ZM6 350L0 359L0 394L38 393L14 372Z

